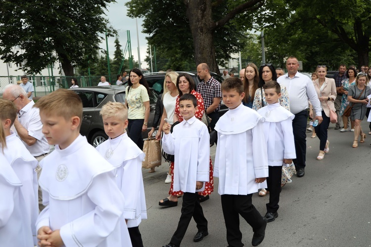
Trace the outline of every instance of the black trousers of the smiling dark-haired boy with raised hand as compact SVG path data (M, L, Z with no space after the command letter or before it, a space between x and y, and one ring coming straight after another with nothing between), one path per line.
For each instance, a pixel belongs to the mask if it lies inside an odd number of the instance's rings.
M175 231L170 243L180 246L188 228L190 220L193 219L197 224L198 231L207 231L207 220L203 215L198 193L185 192L183 194L182 215L179 219L178 228Z

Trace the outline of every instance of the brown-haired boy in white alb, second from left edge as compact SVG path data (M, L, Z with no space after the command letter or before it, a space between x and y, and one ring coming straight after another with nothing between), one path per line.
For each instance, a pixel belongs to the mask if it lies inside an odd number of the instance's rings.
M30 228L34 236L34 245L37 245L36 219L39 215L38 206L38 181L35 171L38 161L30 154L22 141L10 130L17 118L17 108L9 101L0 99L0 121L6 136L6 148L3 148L8 163L13 168L18 179L22 183L21 192L25 200L26 211L23 217L29 217Z

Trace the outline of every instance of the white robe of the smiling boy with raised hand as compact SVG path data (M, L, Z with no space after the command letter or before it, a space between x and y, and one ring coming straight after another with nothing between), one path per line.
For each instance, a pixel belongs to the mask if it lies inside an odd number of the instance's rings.
M210 135L204 123L192 117L162 137L165 153L174 155L174 191L195 193L196 182L209 182Z

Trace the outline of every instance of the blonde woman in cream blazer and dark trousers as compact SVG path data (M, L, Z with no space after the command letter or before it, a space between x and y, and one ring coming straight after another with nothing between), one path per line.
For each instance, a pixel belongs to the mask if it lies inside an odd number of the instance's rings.
M318 79L315 80L314 87L318 94L318 98L322 106L322 118L323 121L321 124L318 124L314 127L318 138L320 139L320 153L317 156L317 160L323 160L325 153L329 151L330 142L327 140L327 129L330 124L330 109L335 110L334 100L336 98L336 85L335 80L326 78L327 68L325 65L317 66L316 70ZM365 112L366 114L366 112ZM312 116L311 116L312 115ZM313 118L313 111L309 113L309 117Z

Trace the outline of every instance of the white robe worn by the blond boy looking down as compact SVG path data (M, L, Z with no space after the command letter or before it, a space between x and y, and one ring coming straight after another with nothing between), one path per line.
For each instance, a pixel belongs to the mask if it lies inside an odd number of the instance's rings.
M147 218L141 164L144 153L128 134L109 138L96 147L96 150L116 168L116 182L125 198L122 221L128 227L139 226L141 219ZM112 155L108 155L113 150ZM108 151L108 153L107 153ZM107 154L107 155L106 155Z

